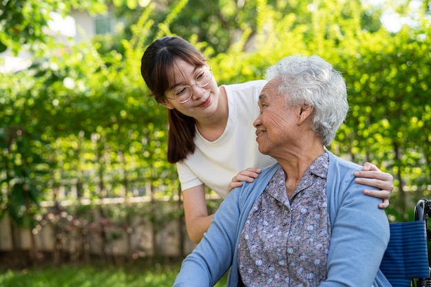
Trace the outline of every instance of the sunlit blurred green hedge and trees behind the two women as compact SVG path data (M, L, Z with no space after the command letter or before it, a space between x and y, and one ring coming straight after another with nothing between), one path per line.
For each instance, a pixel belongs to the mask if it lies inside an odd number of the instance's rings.
M112 33L59 41L50 12L64 18L73 11L109 12L120 21ZM0 52L31 55L25 69L0 74L0 217L8 218L1 227L12 237L8 251L25 249L36 262L46 225L54 249L67 254L72 229L84 242L97 229L107 246L107 228L131 237L138 215L151 222L156 248L157 226L183 225L176 169L166 160L166 110L147 97L140 76L145 47L174 34L202 50L219 85L263 78L291 54L333 63L346 78L350 114L328 149L391 173L388 217L412 220L414 204L431 192L430 12L429 0L1 1ZM160 201L175 207L160 213ZM216 209L218 201L211 204ZM126 258L141 257L130 248ZM75 249L73 259L83 259Z

